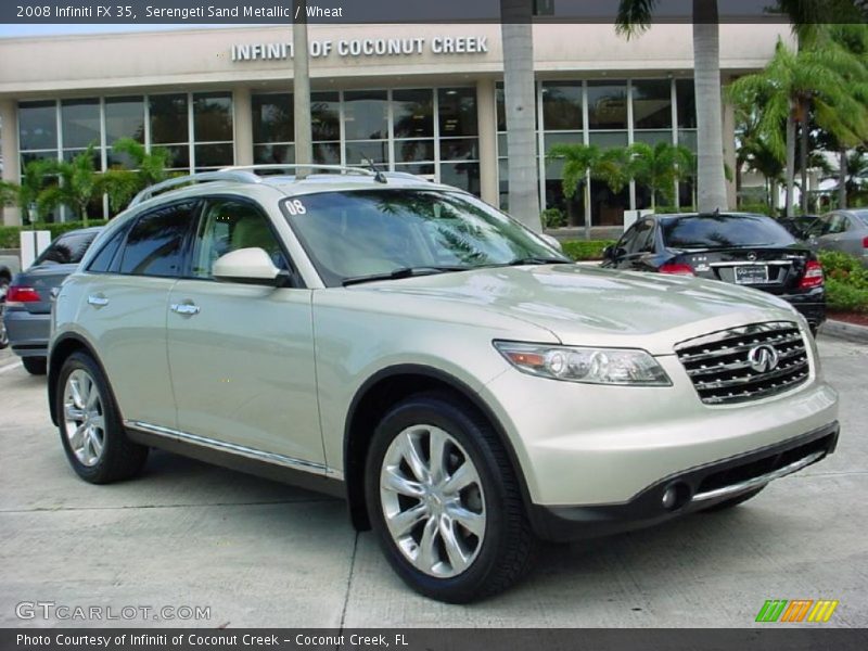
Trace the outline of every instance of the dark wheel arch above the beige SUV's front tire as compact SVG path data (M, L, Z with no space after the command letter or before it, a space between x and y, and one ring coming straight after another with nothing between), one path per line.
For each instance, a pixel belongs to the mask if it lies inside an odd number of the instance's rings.
M474 409L492 425L507 451L521 487L522 500L529 508L529 492L519 457L494 410L465 382L439 369L423 365L397 365L371 375L356 392L344 424L344 483L349 516L357 531L370 528L365 503L365 461L373 431L388 409L412 395L444 391Z

